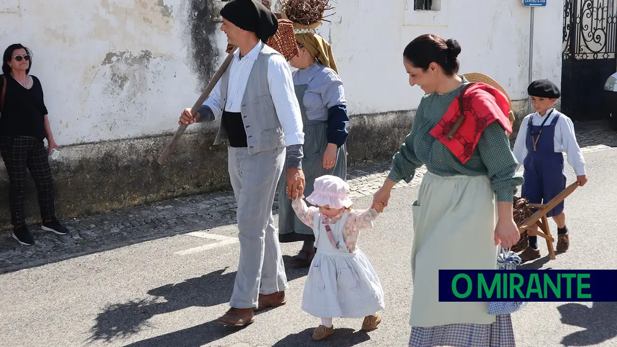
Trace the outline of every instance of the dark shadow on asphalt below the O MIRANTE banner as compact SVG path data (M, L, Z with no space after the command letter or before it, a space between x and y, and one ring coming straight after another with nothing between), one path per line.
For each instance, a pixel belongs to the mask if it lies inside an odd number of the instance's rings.
M561 323L585 330L571 333L561 340L564 346L598 345L617 337L617 303L593 303L589 308L583 304L568 303L557 308Z

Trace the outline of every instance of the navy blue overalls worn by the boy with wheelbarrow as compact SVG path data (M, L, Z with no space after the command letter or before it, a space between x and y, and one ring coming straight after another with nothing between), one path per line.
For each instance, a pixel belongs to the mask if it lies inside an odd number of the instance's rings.
M550 113L553 113L554 109ZM566 188L566 176L563 174L563 153L555 152L555 125L560 114L549 125L544 123L549 119L550 113L542 122L542 125L532 125L533 115L529 117L528 134L525 144L528 150L523 160L524 183L521 195L529 203L547 203ZM534 114L535 115L535 114ZM534 149L534 142L536 142ZM563 212L564 202L560 202L555 208L547 213L547 217L558 216Z

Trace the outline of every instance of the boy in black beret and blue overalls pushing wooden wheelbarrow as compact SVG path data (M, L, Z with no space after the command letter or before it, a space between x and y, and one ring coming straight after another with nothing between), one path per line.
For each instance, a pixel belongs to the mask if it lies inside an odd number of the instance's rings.
M521 164L524 166L521 197L529 203L547 203L566 188L563 153L568 155L568 163L576 173L579 186L587 182L585 160L576 142L572 120L553 108L561 96L559 88L551 81L537 80L527 91L536 112L523 119L513 150L519 168ZM547 214L557 224L558 252L565 252L569 247L563 207L564 202L561 202ZM540 258L537 236L529 237L529 247L520 257L523 261Z

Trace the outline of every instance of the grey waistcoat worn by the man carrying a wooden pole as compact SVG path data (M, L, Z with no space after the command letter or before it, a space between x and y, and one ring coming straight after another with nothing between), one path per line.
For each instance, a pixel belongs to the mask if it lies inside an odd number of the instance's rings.
M249 154L285 146L283 128L276 115L270 88L268 88L268 57L271 54L281 55L275 49L264 44L253 64L249 80L246 83L244 97L242 97L242 123L244 123L244 130L246 130ZM221 114L225 110L227 101L229 71L228 68L221 77ZM214 144L218 145L226 139L228 139L227 131L223 122L221 122Z

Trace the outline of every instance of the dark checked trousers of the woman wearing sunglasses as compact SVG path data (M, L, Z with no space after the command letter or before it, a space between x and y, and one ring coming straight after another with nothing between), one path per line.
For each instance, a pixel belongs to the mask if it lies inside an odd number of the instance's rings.
M9 175L11 224L14 227L25 225L23 204L26 198L27 169L38 190L41 218L43 221L54 218L53 181L43 141L34 137L0 136L0 155Z

